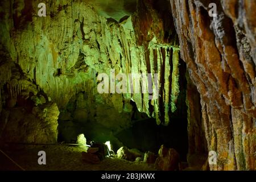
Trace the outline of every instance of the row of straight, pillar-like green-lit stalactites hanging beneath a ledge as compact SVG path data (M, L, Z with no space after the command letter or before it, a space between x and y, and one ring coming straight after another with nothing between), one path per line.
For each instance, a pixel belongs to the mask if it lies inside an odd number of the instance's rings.
M150 43L148 49L150 51L150 71L159 73L159 92L162 93L159 93L161 96L158 96L157 101L152 104L155 107L154 117L158 125L161 123L168 125L169 114L170 112L174 113L177 109L176 102L179 96L179 47ZM171 64L170 56L172 56ZM160 74L163 74L162 78Z

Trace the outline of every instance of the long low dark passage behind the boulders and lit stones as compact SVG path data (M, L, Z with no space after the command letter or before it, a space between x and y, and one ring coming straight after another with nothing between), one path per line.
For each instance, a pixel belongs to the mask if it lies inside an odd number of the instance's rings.
M60 128L61 126L61 123L59 123ZM132 121L131 127L118 133L100 124L86 123L81 125L80 123L72 123L68 129L59 129L58 141L75 143L79 134L85 135L88 144L90 144L90 141L101 143L110 141L115 152L120 147L127 146L137 148L141 152L151 151L157 154L160 146L164 144L168 148L175 148L179 152L181 160L187 161L186 117L172 118L172 122L168 126L156 125L154 118L139 119Z

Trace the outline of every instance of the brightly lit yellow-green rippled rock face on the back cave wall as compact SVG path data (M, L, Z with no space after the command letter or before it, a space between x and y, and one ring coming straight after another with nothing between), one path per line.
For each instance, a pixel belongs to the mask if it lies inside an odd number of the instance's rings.
M128 100L133 100L138 110L146 113L148 117L155 117L158 125L168 125L170 109L175 111L179 94L179 60L176 57L170 64L172 49L177 46L172 45L176 38L174 36L170 38L174 40L164 40L164 22L154 7L149 4L146 6L148 22L144 22L143 16L137 17L138 14L134 14L117 23L99 16L84 2L73 2L72 8L71 3L65 6L65 11L49 10L55 15L54 18L47 16L43 24L41 19L36 20L29 28L17 32L17 36L10 38L13 43L15 42L15 48L9 47L9 50L16 50L19 55L18 64L28 79L35 80L35 84L60 108L65 108L77 93L88 92L92 93L89 97L113 99L114 106L119 107L118 112L125 107L122 105L123 102L115 102L125 100L127 104ZM148 24L143 27L145 24L141 22ZM138 40L137 31L142 31L148 38L139 38L143 39L141 42ZM26 41L34 40L35 37L36 41ZM28 60L27 57L31 59ZM96 73L109 74L113 68L116 74L151 73L152 80L157 79L157 87L162 95L154 92L155 100L149 100L148 93L127 93L119 94L119 98L114 100L112 96L105 97L95 93ZM159 76L155 78L154 73L158 73ZM174 78L171 79L172 75ZM174 83L171 87L170 80ZM11 95L20 94L22 89L23 84L20 84L20 81L10 81ZM155 84L153 90L156 91Z

